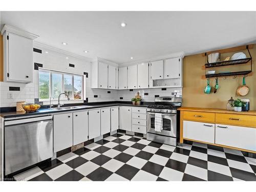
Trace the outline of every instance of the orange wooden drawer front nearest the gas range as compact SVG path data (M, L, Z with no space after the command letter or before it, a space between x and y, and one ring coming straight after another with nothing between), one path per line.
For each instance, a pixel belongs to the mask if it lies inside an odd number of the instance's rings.
M215 113L184 111L183 119L215 122Z

